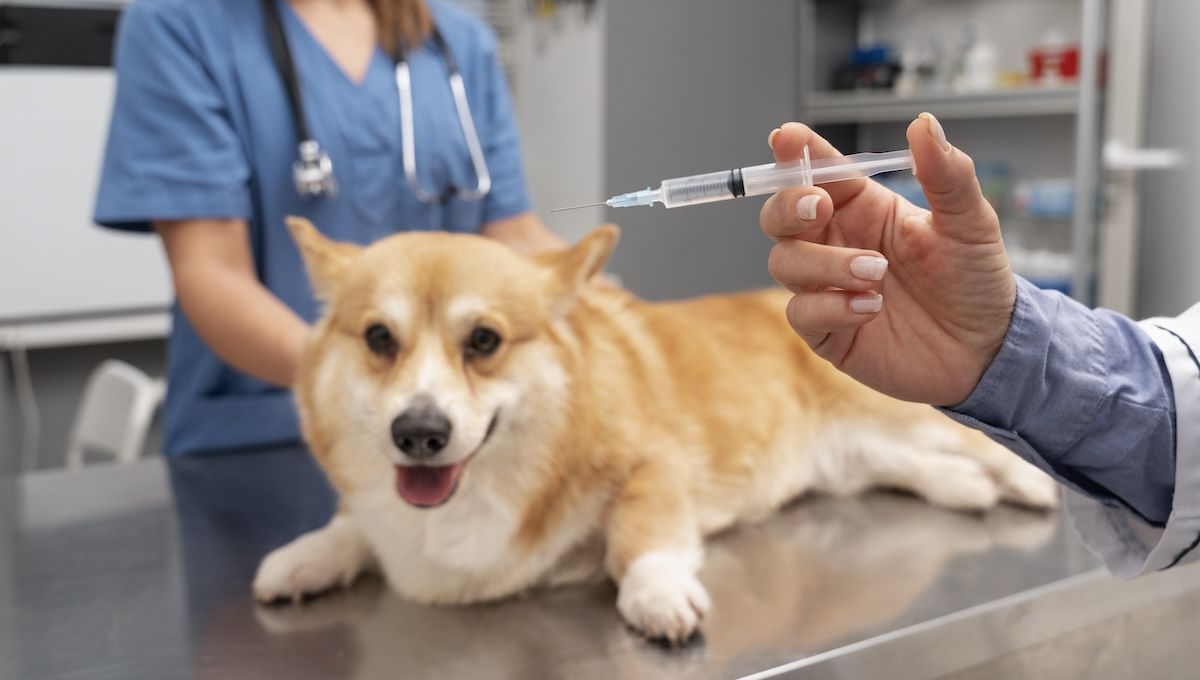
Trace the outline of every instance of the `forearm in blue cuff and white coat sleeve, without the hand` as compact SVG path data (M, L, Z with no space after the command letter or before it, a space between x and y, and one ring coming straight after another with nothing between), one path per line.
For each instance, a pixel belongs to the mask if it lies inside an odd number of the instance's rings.
M947 413L1068 487L1122 577L1200 560L1200 306L1135 324L1027 282L1000 353Z

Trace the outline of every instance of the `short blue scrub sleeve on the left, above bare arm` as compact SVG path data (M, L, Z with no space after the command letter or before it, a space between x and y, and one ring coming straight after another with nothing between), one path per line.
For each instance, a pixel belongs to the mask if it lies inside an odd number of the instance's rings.
M140 0L116 37L116 97L96 222L251 216L250 166L188 2Z

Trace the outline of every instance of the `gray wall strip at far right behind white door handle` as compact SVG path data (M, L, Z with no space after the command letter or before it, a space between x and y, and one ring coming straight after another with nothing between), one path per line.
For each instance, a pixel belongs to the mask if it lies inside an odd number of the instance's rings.
M1200 2L1158 0L1151 12L1146 146L1181 150L1184 167L1141 176L1139 317L1175 315L1200 300L1200 219L1195 207L1200 191L1200 71L1195 56Z

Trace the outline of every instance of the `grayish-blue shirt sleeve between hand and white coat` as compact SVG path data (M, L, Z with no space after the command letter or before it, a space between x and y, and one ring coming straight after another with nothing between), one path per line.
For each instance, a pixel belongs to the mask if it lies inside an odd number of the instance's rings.
M1004 343L966 402L943 409L1103 504L1171 514L1175 397L1133 320L1018 278Z

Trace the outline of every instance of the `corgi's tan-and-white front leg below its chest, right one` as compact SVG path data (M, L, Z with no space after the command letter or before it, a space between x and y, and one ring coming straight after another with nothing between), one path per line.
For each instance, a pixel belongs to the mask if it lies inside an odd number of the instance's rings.
M709 598L696 578L700 528L680 471L665 463L638 467L617 493L605 535L620 615L647 637L688 639Z

